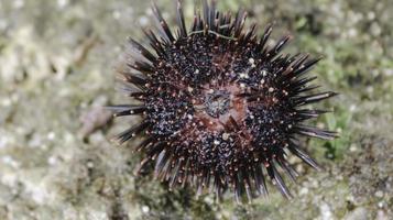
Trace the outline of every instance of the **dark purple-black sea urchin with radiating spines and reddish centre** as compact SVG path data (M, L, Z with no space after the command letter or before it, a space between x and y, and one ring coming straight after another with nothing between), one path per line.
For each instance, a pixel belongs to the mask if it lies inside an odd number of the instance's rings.
M335 132L303 122L326 111L307 105L335 96L310 94L316 77L305 74L319 61L308 55L281 55L290 36L274 46L266 42L269 25L258 38L255 24L244 30L245 13L216 10L204 1L187 31L177 1L176 32L172 32L153 6L157 34L144 31L154 52L130 40L139 56L120 74L123 90L140 105L110 107L116 117L143 114L143 121L117 136L124 143L144 133L137 147L155 161L155 176L170 187L192 185L200 194L227 189L237 199L266 195L265 176L291 197L281 173L296 172L288 152L308 165L318 165L299 146L297 135L331 140Z

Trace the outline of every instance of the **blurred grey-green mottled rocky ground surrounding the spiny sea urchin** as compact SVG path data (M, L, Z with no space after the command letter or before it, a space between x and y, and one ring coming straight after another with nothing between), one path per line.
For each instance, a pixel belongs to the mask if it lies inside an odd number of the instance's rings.
M157 4L174 23L174 2ZM0 0L0 219L392 219L393 1L219 1L238 8L260 34L274 21L273 38L294 35L286 52L323 55L313 73L340 94L310 122L340 139L305 140L325 170L290 158L293 200L270 186L269 198L217 204L134 176L132 143L110 138L139 119L111 123L101 107L128 101L114 67L127 36L143 42L153 24L150 1ZM189 24L192 0L185 12Z

